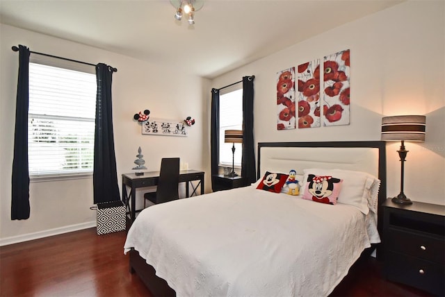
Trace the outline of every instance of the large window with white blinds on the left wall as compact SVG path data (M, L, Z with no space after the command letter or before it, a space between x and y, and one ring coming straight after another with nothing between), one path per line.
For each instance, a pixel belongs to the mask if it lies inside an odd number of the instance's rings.
M97 85L89 68L29 63L31 177L92 173Z

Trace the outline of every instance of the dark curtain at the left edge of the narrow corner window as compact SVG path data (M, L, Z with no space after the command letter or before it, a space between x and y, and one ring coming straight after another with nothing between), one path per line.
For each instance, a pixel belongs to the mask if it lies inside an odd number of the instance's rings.
M211 187L213 189L213 176L218 175L218 160L220 159L220 90L211 89L211 129L210 129L210 150L211 150Z

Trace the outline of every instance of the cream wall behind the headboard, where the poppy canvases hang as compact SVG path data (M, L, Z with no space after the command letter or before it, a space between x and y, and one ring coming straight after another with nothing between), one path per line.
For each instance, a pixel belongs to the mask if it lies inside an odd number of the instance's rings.
M413 201L445 205L444 12L444 1L401 3L224 74L211 86L255 76L256 142L379 140L382 117L426 114L426 142L405 143L404 192ZM350 49L350 125L276 130L275 73L343 49ZM388 196L400 192L399 146L387 144Z

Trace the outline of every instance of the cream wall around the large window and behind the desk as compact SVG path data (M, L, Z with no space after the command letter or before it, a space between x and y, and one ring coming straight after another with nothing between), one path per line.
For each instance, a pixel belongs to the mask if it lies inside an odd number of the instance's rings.
M113 126L118 181L136 166L141 146L148 170L159 170L162 157L178 156L191 169L208 171L207 99L209 80L192 76L186 69L152 65L127 56L60 40L48 35L0 24L0 245L24 239L95 226L92 178L31 183L31 217L10 220L11 171L17 90L18 53L11 46L24 44L31 51L49 53L90 63L104 62L118 68L113 74ZM133 115L149 109L151 117L182 120L195 118L188 137L141 135ZM206 178L209 175L206 174ZM209 189L207 178L206 189ZM138 192L138 196L142 192ZM141 199L139 199L141 200Z

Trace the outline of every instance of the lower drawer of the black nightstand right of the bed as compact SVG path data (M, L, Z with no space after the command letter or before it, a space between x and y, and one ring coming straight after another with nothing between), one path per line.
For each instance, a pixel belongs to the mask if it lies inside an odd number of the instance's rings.
M444 251L442 251L443 253ZM386 252L385 264L389 280L403 282L412 287L423 289L444 296L445 266L435 264L416 257Z

